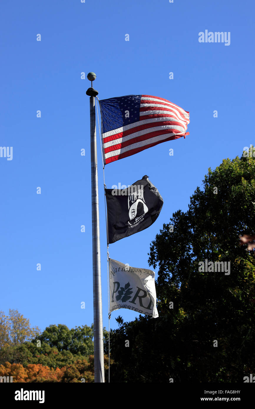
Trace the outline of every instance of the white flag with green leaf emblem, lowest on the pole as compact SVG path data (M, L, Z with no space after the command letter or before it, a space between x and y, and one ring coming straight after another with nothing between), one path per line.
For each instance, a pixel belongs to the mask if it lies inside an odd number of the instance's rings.
M127 308L158 317L154 271L130 267L109 258L109 276L110 312Z

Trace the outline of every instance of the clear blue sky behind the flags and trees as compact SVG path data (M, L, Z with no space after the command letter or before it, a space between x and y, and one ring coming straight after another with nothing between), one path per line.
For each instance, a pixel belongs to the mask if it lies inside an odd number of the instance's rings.
M81 72L97 74L99 99L149 94L190 111L186 139L105 167L108 188L147 174L164 199L151 227L109 245L111 258L148 268L151 240L174 211L187 210L208 167L215 169L223 158L241 155L254 143L254 9L254 2L237 0L2 3L0 146L13 146L13 160L0 157L0 310L18 309L41 330L93 322L90 83ZM230 32L230 45L199 43L205 30ZM103 324L108 328L98 129L97 137ZM117 328L117 315L125 321L138 316L124 309L113 312L111 328Z

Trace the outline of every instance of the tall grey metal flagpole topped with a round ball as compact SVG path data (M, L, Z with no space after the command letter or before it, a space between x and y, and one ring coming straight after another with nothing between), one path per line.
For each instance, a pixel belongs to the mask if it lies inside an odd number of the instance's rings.
M89 72L89 81L95 80L96 74ZM97 139L95 97L98 92L88 88L90 96L90 157L91 157L91 203L92 203L92 248L93 248L93 309L94 309L94 372L95 383L104 382L104 339L102 319L101 264L100 264L100 232L99 203L97 177Z

